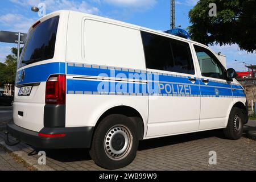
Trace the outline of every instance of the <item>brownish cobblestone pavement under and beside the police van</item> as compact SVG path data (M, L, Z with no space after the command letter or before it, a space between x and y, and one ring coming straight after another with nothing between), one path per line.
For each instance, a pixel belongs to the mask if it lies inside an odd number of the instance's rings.
M246 127L252 129L256 128ZM18 150L28 154L32 148L19 144ZM210 151L217 153L216 165L208 163ZM49 169L104 170L90 159L88 150L47 150L46 154ZM36 161L38 157L36 152L30 156ZM228 140L221 130L143 140L134 162L121 170L256 170L256 141L246 134Z

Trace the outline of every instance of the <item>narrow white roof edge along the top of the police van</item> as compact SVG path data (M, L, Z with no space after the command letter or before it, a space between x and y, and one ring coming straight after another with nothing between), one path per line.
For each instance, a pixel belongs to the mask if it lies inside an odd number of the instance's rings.
M104 18L102 16L97 16L97 15L92 15L92 14L86 14L86 13L81 13L79 11L71 11L71 10L59 10L59 11L54 11L50 14L47 14L46 16L43 16L42 18L36 20L36 22L38 22L39 20L41 21L44 21L46 19L48 19L48 16L53 16L54 14L61 14L61 13L76 13L76 14L80 14L81 17L84 17L84 16L88 16L88 17L91 17L91 18L94 18L94 19L98 19L98 20L104 20L105 22L109 22L109 23L113 23L113 24L119 24L121 26L124 26L124 27L128 27L128 28L133 28L133 29L137 29L137 30L146 30L146 31L150 31L150 32L154 32L156 34L160 34L160 35L164 35L164 36L168 36L170 38L175 38L175 39L180 39L180 40L183 40L185 42L191 42L191 43L195 43L195 44L198 44L202 47L208 47L208 46L205 46L204 44L201 44L199 42L195 42L193 40L189 40L189 39L184 39L184 38L181 38L179 36L175 36L175 35L171 35L171 34L167 34L165 32L162 32L162 31L157 31L157 30L153 30L151 28L146 28L146 27L142 27L142 26L137 26L137 25L134 25L134 24L130 24L130 23L125 23L125 22L121 22L119 20L114 20L114 19L110 19L110 18ZM36 23L35 22L35 23ZM32 26L31 26L32 27ZM31 29L31 28L30 28Z

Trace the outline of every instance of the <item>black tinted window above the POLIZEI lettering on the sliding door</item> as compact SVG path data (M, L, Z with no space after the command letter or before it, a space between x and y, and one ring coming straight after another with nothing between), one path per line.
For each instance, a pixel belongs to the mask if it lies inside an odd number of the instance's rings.
M147 68L195 74L188 43L141 32Z

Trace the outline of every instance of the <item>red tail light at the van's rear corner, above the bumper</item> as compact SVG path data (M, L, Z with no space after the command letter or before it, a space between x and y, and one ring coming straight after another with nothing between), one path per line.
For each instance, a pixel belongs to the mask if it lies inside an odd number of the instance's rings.
M52 75L46 82L46 104L64 105L66 102L66 76Z

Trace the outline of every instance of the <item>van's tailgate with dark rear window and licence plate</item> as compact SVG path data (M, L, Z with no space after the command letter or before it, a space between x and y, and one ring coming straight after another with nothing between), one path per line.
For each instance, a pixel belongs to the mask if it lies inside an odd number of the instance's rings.
M65 73L65 63L55 59L59 20L59 15L50 15L31 27L18 62L13 119L16 125L28 130L40 131L44 126L48 77Z

